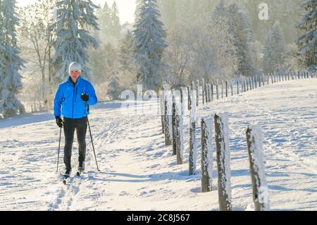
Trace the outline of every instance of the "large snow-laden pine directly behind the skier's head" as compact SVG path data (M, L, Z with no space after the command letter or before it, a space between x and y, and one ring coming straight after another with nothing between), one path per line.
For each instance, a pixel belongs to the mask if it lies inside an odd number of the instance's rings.
M89 35L89 28L99 29L94 15L96 5L91 0L60 0L56 4L57 19L55 56L53 63L57 67L56 78L68 77L68 66L77 61L82 65L82 75L91 79L87 49L97 48L97 40Z

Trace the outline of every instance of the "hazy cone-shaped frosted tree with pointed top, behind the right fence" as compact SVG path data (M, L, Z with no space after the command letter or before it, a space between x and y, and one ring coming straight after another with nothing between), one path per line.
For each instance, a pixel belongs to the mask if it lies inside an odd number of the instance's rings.
M280 27L280 23L276 22L266 36L263 49L264 71L266 73L274 73L274 71L287 69L285 68L285 63L288 52L282 28Z

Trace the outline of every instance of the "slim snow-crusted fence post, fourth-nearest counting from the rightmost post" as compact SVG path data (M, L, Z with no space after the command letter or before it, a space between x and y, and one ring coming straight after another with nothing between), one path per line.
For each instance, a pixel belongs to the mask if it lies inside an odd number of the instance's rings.
M197 162L197 142L196 142L196 109L192 109L190 113L190 129L189 129L189 176L194 175Z

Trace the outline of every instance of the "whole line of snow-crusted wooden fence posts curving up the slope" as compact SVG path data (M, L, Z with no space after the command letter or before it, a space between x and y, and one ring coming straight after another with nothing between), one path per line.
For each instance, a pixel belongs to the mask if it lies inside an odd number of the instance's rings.
M244 92L257 89L265 85L279 83L287 80L316 78L316 73L305 71L285 71L282 73L268 73L267 75L255 75L250 78L235 80L209 80L202 79L192 81L188 87L180 88L180 104L176 101L176 91L170 91L164 85L160 93L160 111L162 133L165 135L166 146L172 146L176 163L184 162L184 136L183 115L185 107L190 111L189 121L189 175L194 175L197 163L197 107L201 99L202 106L216 99L240 95ZM201 87L199 86L201 83ZM221 88L221 93L220 93ZM201 95L200 91L201 90ZM201 97L201 98L200 98ZM187 105L185 104L187 99ZM228 117L225 114L215 114L215 145L216 162L218 169L218 197L220 211L232 210L231 183L230 183L230 147L228 137ZM259 126L249 126L246 131L247 147L249 154L251 183L253 190L254 207L257 211L268 210L268 186L266 184L263 164L263 150L261 129ZM212 150L213 132L211 121L208 118L201 119L201 192L212 190Z

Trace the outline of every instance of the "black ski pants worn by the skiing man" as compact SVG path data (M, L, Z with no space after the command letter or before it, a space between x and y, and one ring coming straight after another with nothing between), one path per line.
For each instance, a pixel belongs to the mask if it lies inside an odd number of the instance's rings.
M72 157L72 147L73 147L75 130L77 133L77 142L79 145L78 162L85 162L87 117L64 118L63 128L64 128L64 134L65 134L64 163L65 163L66 169L71 169L70 159Z

